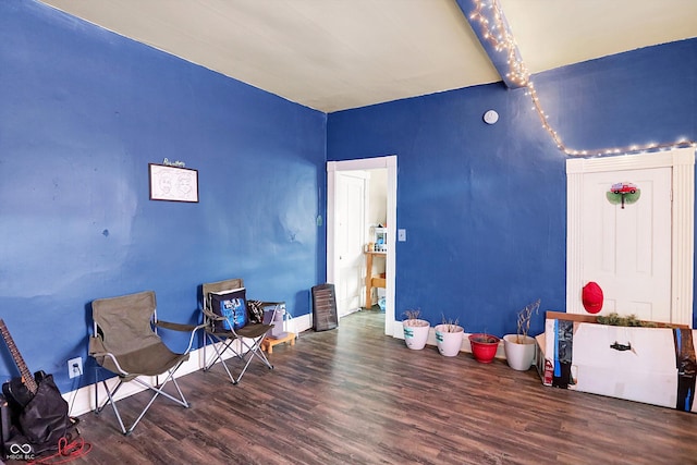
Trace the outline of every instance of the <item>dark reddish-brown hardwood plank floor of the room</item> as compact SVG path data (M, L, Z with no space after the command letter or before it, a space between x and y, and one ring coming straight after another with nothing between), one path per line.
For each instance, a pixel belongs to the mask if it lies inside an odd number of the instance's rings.
M411 351L362 311L277 345L233 386L220 366L180 378L191 408L156 401L124 437L81 417L100 464L695 464L697 415L546 388L504 360ZM145 394L120 401L132 418Z

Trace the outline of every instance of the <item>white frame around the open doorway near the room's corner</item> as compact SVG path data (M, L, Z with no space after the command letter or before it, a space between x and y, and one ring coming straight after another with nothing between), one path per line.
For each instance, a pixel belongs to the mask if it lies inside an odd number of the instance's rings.
M394 335L394 274L396 271L395 228L396 228L396 156L391 155L378 158L364 158L358 160L328 161L327 162L327 282L334 282L339 276L339 260L335 257L335 231L337 231L337 172L355 170L388 170L388 255L386 258L386 287L384 299L389 309L384 313L384 333ZM401 328L401 327L400 327Z

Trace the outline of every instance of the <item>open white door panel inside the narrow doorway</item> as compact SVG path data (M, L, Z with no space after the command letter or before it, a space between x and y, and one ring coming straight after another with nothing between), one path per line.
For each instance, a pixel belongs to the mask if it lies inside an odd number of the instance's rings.
M366 174L342 172L337 178L337 313L340 317L360 308L365 240Z

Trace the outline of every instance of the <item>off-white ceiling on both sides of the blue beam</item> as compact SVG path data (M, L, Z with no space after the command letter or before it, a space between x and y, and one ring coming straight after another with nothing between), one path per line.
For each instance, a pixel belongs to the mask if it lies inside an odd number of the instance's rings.
M455 0L41 0L331 112L501 81ZM530 71L697 37L697 0L498 0Z

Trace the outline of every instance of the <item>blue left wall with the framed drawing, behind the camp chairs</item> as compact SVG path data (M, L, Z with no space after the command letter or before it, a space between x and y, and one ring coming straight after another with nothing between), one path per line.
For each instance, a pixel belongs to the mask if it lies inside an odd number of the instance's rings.
M0 2L0 315L30 370L76 387L94 298L154 290L193 322L203 282L242 277L309 311L326 114L26 0ZM198 204L149 200L166 157L198 170Z

